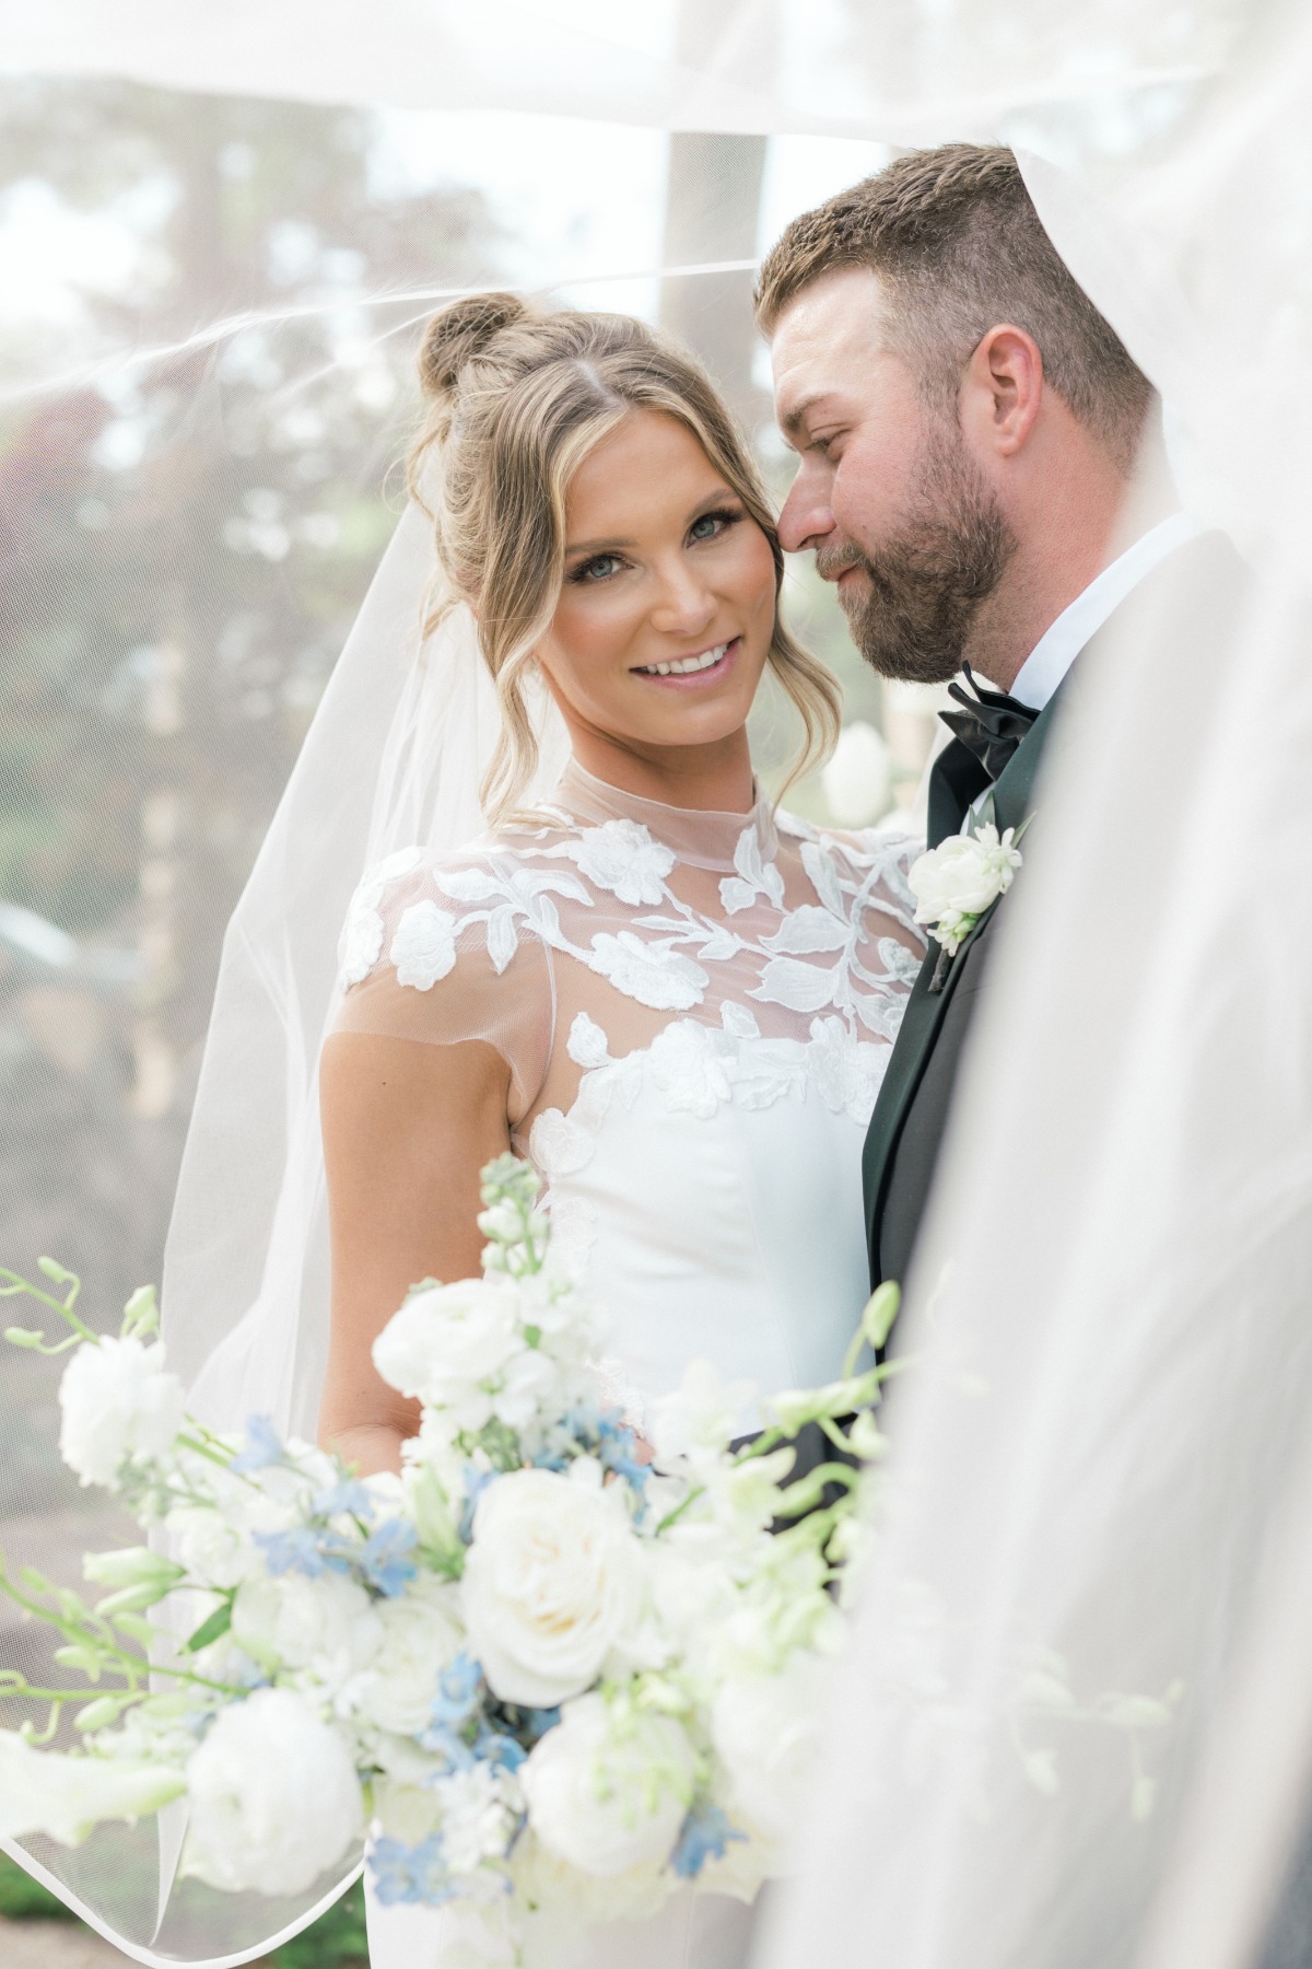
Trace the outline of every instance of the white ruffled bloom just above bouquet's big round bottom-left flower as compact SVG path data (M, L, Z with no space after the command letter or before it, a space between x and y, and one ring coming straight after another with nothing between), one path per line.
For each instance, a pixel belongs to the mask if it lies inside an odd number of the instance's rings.
M232 1601L232 1640L264 1668L299 1668L340 1689L370 1668L384 1640L364 1587L342 1573L252 1573Z

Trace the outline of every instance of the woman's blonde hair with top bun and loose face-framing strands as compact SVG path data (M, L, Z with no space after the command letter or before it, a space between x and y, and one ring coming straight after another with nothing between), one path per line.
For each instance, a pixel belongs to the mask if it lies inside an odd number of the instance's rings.
M474 610L502 709L480 797L500 821L537 768L525 681L565 579L565 494L629 410L663 412L696 437L769 540L775 599L783 551L765 488L710 376L641 321L539 313L513 293L480 293L433 317L419 376L429 412L409 455L409 490L435 524L445 577L425 628L462 601ZM840 695L828 669L793 642L777 606L769 666L803 721L791 784L828 756Z

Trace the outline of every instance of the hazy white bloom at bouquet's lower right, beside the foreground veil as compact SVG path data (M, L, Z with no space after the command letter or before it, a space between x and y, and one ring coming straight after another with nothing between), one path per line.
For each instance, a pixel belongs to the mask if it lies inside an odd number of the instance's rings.
M799 1823L812 1774L826 1664L799 1650L779 1676L736 1676L712 1707L712 1739L730 1786L730 1817L781 1839Z

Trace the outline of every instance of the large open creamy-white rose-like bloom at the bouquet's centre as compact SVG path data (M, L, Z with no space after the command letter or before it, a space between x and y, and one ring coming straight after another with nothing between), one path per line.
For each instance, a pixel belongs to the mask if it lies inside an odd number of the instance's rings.
M616 1491L555 1471L509 1471L474 1512L460 1603L494 1695L551 1709L598 1676L639 1593Z

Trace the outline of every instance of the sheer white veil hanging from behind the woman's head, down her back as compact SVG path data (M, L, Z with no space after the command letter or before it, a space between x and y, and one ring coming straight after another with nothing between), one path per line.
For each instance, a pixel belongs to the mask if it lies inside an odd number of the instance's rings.
M268 1414L313 1439L327 1347L319 1049L356 884L397 849L484 831L500 730L468 608L421 638L439 581L409 506L384 555L228 927L165 1250L171 1359L212 1428ZM535 699L547 792L567 752Z

